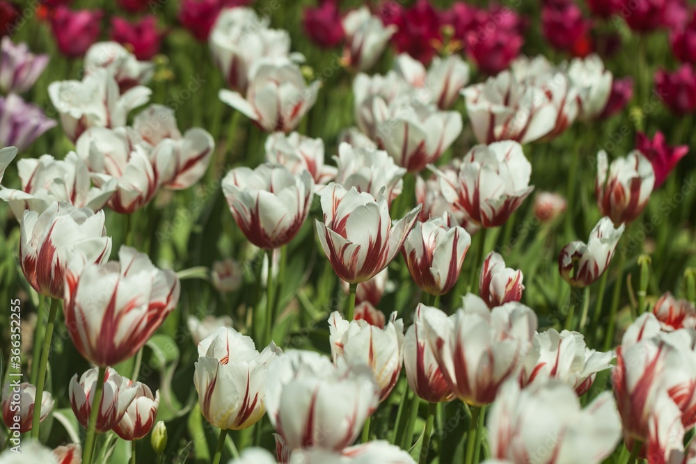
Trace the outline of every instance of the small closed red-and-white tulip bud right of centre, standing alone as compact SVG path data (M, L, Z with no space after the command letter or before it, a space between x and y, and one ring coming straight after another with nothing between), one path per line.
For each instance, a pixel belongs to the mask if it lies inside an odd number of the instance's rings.
M503 256L491 251L481 269L479 295L490 308L520 301L524 290L522 278L522 271L505 267Z

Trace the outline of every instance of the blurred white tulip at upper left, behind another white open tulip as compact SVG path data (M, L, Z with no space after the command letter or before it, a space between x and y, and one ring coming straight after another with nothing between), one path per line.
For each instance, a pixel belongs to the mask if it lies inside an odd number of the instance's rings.
M113 79L116 79L121 94L148 83L155 74L154 63L138 61L134 54L117 42L97 42L87 50L84 62L85 75L93 74L102 67L109 71L108 74L113 76Z

